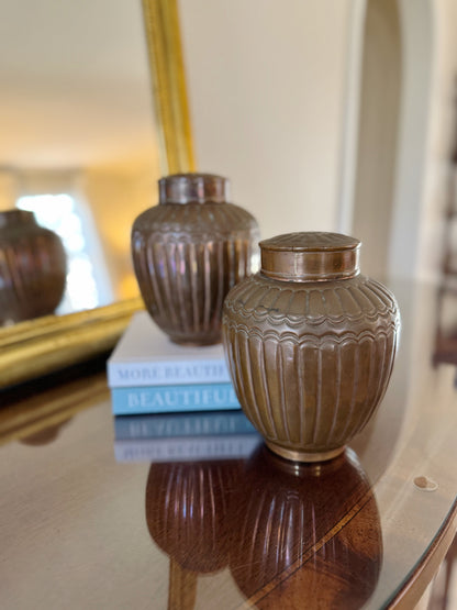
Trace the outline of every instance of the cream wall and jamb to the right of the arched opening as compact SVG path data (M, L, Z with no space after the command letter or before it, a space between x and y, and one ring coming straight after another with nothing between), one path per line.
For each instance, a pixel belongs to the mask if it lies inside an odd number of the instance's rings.
M403 101L390 273L436 281L457 119L457 3L399 0Z

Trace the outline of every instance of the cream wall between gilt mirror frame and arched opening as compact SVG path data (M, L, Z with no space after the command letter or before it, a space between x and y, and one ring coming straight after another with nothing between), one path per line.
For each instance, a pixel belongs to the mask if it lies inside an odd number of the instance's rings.
M337 229L357 1L180 2L198 167L232 179L264 237Z

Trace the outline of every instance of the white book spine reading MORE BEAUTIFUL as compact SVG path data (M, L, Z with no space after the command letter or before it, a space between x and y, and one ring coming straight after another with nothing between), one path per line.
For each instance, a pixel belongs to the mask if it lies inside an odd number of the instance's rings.
M228 368L223 358L170 359L157 363L108 361L107 373L108 385L111 388L231 382Z

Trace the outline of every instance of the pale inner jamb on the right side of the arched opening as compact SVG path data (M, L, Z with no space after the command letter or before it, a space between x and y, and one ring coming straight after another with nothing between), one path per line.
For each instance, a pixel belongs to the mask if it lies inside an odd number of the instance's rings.
M393 199L389 274L417 275L419 234L423 222L430 100L434 71L433 0L399 0L402 87Z

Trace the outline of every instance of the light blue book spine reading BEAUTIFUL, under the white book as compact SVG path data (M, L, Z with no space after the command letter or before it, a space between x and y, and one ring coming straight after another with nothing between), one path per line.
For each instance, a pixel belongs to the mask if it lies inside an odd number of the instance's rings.
M239 409L232 384L112 388L114 415Z

